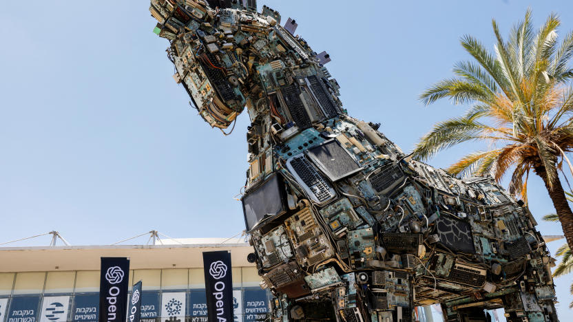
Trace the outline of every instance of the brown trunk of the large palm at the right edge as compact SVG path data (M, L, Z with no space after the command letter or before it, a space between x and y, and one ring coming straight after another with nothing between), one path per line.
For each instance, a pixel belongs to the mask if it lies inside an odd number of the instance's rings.
M567 244L571 249L573 249L573 212L571 207L567 202L567 197L565 197L565 191L563 191L563 186L561 186L561 180L559 180L559 175L556 175L555 181L553 182L553 187L549 186L547 180L547 173L545 172L545 167L535 167L534 171L537 175L543 179L545 183L545 188L549 193L549 197L553 202L557 216L559 217L559 222L561 222L561 228L563 229L563 235L567 239Z

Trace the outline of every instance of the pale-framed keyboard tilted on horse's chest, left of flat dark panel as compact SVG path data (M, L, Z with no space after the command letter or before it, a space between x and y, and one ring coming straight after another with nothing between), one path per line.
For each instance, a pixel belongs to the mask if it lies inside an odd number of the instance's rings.
M295 155L289 158L287 169L293 174L302 189L306 191L306 194L318 204L335 197L336 193L333 187L304 155Z

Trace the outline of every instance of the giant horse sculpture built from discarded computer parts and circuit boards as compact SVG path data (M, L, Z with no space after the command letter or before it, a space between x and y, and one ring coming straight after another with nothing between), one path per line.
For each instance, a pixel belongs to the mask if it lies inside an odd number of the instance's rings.
M411 160L348 116L317 54L256 1L152 0L175 81L221 131L247 107L244 221L271 321L558 321L553 260L527 206L490 178Z

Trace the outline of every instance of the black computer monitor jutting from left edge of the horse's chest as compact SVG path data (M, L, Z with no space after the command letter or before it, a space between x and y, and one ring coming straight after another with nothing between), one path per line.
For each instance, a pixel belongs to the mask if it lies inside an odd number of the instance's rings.
M249 189L241 198L247 231L267 219L284 214L287 211L285 195L284 182L278 173Z

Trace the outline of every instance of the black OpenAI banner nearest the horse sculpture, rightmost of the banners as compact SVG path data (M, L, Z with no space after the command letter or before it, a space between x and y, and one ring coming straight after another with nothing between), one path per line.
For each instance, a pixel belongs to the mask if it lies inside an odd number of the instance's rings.
M227 250L204 252L203 268L209 321L233 321L231 253Z

